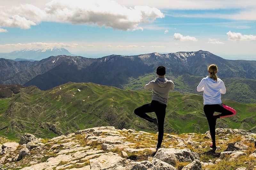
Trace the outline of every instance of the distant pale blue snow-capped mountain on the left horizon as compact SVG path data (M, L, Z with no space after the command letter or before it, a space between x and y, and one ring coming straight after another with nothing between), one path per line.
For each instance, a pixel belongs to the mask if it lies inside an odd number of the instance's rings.
M44 58L48 58L49 56L57 56L57 55L71 55L67 49L65 48L26 48L17 51L12 51L11 53L7 54L0 54L0 58L6 59L27 59L27 60L42 60Z

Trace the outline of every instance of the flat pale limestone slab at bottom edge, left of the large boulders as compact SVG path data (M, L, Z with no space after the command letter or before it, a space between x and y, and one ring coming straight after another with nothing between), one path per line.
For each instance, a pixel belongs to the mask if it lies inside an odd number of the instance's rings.
M98 158L90 159L91 169L114 169L117 166L125 166L125 159L116 153L101 155Z

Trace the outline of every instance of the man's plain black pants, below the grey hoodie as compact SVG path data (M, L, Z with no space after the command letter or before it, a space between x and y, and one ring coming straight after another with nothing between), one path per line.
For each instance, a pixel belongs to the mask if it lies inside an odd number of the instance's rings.
M164 117L165 117L166 105L156 100L152 100L151 103L140 106L134 110L135 115L141 118L154 122L154 119L148 116L146 113L155 112L158 122L158 143L156 147L160 147L164 137Z

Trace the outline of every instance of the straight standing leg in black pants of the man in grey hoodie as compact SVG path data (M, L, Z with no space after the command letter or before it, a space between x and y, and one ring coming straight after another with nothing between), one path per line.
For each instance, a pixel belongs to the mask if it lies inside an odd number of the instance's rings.
M160 104L160 105L164 105L164 104ZM161 107L161 109L155 111L157 122L158 122L158 140L156 145L157 148L161 147L163 137L164 137L164 117L165 117L166 105L159 106L159 107Z

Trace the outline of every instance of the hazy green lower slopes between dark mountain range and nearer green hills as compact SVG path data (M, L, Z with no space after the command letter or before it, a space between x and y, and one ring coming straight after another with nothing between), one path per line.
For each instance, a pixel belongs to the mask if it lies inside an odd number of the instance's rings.
M144 85L155 78L155 73L146 74L138 78L130 78L129 83L124 85L124 89L144 90ZM196 91L196 86L203 77L190 76L188 74L174 77L169 74L166 75L166 78L174 82L174 91L203 95L203 92L198 93ZM227 93L222 95L222 99L235 100L241 103L256 103L256 80L246 78L223 78L222 80L227 89Z

